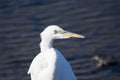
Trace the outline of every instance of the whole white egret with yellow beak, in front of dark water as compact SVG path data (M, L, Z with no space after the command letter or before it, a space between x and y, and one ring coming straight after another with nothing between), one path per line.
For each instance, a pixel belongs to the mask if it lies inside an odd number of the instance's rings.
M41 33L40 53L33 59L28 74L31 80L77 80L70 63L62 53L53 47L55 39L85 38L85 36L72 33L50 25Z

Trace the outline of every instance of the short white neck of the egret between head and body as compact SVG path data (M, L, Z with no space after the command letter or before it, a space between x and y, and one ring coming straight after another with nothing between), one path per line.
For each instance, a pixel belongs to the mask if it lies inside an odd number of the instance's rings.
M47 51L53 48L53 39L49 37L41 37L42 41L40 43L41 52Z

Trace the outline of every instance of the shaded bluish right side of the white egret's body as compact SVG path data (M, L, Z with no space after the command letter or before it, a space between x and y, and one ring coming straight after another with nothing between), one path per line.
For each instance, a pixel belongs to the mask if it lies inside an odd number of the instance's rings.
M77 80L68 61L58 50L56 53L57 60L53 80Z

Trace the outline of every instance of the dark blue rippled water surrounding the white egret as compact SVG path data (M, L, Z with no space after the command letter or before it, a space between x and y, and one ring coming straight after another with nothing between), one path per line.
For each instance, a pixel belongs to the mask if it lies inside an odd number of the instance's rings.
M51 24L86 36L54 43L78 80L120 80L120 0L0 0L0 80L30 80L39 33ZM97 66L95 55L118 64Z

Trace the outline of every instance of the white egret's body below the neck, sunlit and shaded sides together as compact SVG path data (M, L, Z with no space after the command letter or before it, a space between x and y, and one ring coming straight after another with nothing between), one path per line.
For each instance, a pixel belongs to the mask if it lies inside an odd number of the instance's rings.
M33 59L28 74L32 80L77 80L69 63L53 48Z

